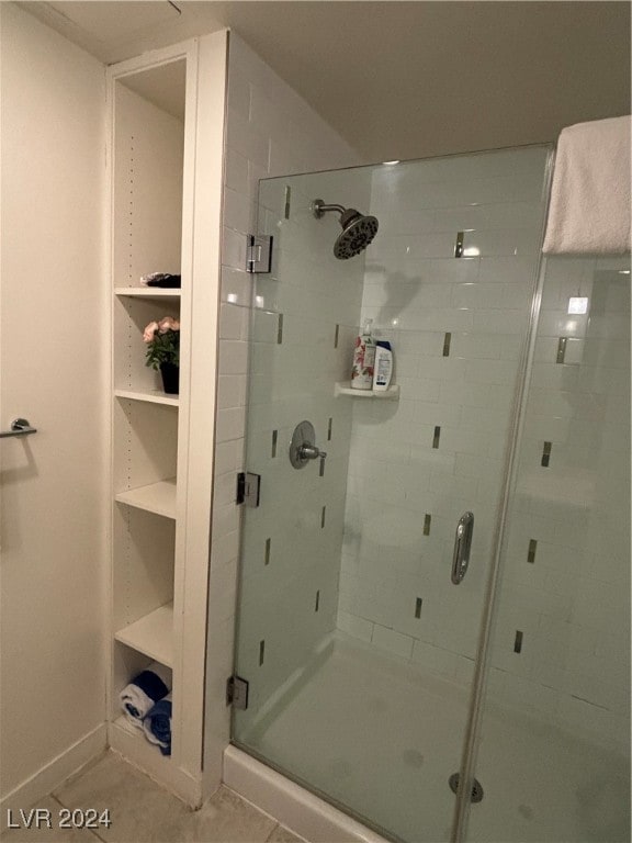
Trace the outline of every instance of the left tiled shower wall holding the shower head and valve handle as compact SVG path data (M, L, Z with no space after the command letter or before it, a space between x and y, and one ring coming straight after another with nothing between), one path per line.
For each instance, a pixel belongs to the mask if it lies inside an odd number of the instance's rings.
M334 384L349 378L362 300L363 259L332 255L336 216L316 220L311 202L327 177L261 186L259 231L275 237L272 273L257 278L247 423L248 470L261 475L260 505L244 514L237 666L250 682L237 737L280 699L336 625L345 516L350 406ZM369 191L351 172L336 201L362 205ZM295 469L289 445L304 419L327 453Z

